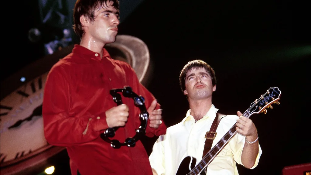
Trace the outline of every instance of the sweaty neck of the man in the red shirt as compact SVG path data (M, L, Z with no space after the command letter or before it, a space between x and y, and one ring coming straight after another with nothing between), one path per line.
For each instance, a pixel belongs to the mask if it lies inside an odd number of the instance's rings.
M93 52L97 52L100 54L100 58L103 56L103 48L105 46L104 43L98 42L93 37L83 36L80 41L80 45L92 50Z

